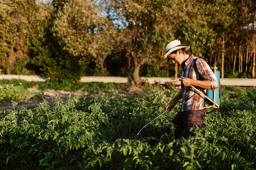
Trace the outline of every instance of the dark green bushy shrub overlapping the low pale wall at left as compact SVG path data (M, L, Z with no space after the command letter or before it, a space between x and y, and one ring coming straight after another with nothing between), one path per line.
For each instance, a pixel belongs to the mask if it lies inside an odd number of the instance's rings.
M41 27L30 37L32 44L31 67L36 67L36 73L51 78L52 82L60 83L64 79L77 82L82 70L86 70L86 66L89 65L89 58L81 61L80 58L69 53L59 42L55 36L56 31L53 29L57 12L61 12L61 10L53 10L53 8L48 10L47 14L51 17L45 20L46 26ZM85 69L83 69L84 67Z

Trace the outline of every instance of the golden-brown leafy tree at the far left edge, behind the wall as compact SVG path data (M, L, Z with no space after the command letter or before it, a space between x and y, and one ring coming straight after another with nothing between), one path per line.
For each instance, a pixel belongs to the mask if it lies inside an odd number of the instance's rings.
M34 72L31 54L36 37L51 15L51 5L39 1L0 1L0 67L4 74Z

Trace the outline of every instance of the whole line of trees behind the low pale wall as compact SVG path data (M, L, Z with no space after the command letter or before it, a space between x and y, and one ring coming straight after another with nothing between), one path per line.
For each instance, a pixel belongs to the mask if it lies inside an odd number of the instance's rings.
M255 1L0 1L0 74L61 82L84 75L180 76L162 59L174 39L221 77L255 77Z

